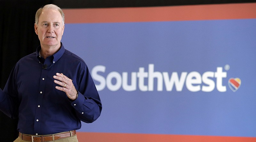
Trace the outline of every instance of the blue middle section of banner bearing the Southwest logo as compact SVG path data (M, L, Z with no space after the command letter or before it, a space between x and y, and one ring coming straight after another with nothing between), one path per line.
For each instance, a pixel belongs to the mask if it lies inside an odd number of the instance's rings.
M102 114L79 131L256 137L256 19L65 24Z

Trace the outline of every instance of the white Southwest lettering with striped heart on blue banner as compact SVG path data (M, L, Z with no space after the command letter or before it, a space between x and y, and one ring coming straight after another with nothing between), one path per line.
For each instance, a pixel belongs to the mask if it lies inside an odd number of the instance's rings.
M225 65L224 69L229 70L229 65ZM215 88L219 92L226 92L226 86L222 84L223 79L227 77L227 72L223 71L223 67L217 67L216 71L206 71L199 73L192 72L159 72L155 71L154 64L148 64L148 71L145 67L140 67L138 72L116 72L112 71L105 74L106 67L98 65L92 68L92 78L96 81L98 91L108 88L110 91L123 89L124 91L182 91L187 88L188 91L211 92ZM105 75L104 75L105 74ZM179 75L180 74L180 75ZM105 77L106 76L106 77ZM114 82L112 82L114 80ZM154 82L156 80L156 82ZM97 83L98 82L98 83ZM232 91L237 91L241 85L239 78L230 78L228 86ZM156 87L154 87L156 86Z

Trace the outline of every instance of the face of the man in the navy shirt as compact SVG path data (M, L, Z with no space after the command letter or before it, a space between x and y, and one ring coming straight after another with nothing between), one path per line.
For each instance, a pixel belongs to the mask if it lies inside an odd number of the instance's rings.
M39 16L38 25L35 24L35 32L42 46L60 46L64 27L58 10L44 9Z

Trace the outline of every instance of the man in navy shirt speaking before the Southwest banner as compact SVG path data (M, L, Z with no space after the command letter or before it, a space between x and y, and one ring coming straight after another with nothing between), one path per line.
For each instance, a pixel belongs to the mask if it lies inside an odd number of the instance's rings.
M15 142L77 141L81 121L100 116L100 97L87 65L60 42L64 28L58 6L38 9L35 32L41 45L16 63L0 89L0 110L19 118Z

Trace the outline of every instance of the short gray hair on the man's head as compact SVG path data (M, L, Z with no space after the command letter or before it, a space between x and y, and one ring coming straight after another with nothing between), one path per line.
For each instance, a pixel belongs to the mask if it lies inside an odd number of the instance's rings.
M55 10L58 10L61 14L61 18L62 18L62 25L64 25L64 21L65 21L65 15L63 13L63 11L60 9L59 6L57 5L54 5L54 4L47 4L47 5L44 5L44 7L41 7L37 10L36 12L36 17L35 17L35 23L36 25L38 25L38 20L39 20L39 16L41 15L42 11L44 9L55 9Z

